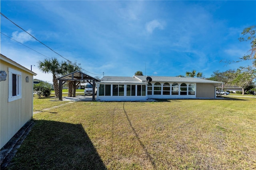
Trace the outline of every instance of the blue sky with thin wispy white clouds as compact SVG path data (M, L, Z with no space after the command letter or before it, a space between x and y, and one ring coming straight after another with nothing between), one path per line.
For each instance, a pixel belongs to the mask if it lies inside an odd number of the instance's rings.
M193 69L210 77L250 63L238 38L256 25L256 1L5 1L1 13L90 76L185 75ZM52 82L37 62L62 57L1 15L1 54ZM30 47L43 55L13 41ZM34 66L35 65L35 66Z

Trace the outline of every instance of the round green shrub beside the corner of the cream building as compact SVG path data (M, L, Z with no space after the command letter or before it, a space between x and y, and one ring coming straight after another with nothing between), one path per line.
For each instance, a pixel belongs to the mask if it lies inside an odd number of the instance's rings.
M45 82L40 82L38 84L34 84L34 93L38 95L38 98L41 96L48 97L51 95L51 85Z

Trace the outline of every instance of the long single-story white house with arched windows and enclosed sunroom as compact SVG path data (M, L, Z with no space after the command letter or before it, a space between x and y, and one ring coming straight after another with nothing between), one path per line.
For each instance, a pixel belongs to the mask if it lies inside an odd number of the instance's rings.
M148 98L216 98L216 87L223 82L191 77L104 76L96 84L97 100L141 101Z

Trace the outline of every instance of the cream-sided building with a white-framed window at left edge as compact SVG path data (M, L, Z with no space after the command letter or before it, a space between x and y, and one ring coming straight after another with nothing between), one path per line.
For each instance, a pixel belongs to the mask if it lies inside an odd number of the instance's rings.
M0 148L32 119L36 73L0 54Z

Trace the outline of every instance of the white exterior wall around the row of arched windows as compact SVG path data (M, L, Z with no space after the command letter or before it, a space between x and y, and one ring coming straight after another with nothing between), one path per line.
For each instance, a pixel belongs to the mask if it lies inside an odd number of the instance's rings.
M153 98L153 99L194 99L196 98L196 83L193 83L195 85L195 94L194 95L180 95L180 85L182 83L186 83L187 84L187 93L188 93L188 85L191 82L159 82L161 84L161 95L155 95L154 94L154 84L156 82L150 82L152 84L152 95L148 95L148 98ZM164 87L164 83L169 83L170 84L170 95L163 95L163 87ZM172 84L173 83L177 83L179 85L179 94L178 95L172 95Z

